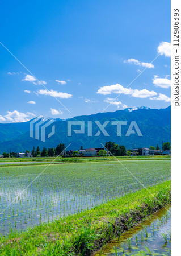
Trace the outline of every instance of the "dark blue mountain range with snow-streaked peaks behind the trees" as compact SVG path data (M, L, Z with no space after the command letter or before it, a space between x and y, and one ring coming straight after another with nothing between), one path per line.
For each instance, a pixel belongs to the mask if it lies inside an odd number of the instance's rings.
M56 147L57 144L60 143L65 143L66 146L71 143L68 149L77 150L81 146L83 146L83 148L102 147L102 144L105 144L107 141L112 141L117 144L123 144L127 149L133 147L138 148L157 146L157 144L161 147L162 141L170 142L170 106L166 109L150 109L148 107L141 106L138 108L117 110L116 112L82 115L64 120L59 118L49 118L47 119L48 121L54 120L53 125L55 126L55 133L50 138L47 138L47 135L52 131L52 126L48 126L47 129L45 129L45 142L30 137L30 122L32 120L21 123L0 123L1 154L3 152L10 151L31 151L33 146L39 146L40 149L42 149L43 147ZM84 121L85 133L75 134L73 131L72 135L68 136L69 121ZM92 136L87 135L88 121L92 122ZM105 130L110 136L105 136L101 131L99 134L100 129L95 121L99 121L101 125L103 125L103 123L107 121ZM127 122L127 125L121 126L121 136L117 136L116 125L111 125L111 122L115 121ZM138 136L137 133L126 136L128 127L132 121L135 121L137 123L138 128L142 133L142 136ZM80 126L73 126L72 129L79 130ZM133 130L135 130L134 127ZM96 133L98 133L99 136L95 136Z

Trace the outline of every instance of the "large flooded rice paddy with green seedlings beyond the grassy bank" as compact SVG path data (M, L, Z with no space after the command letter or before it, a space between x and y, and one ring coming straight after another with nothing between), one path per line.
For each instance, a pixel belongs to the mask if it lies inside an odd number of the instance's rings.
M145 187L170 179L169 159L125 160L124 166ZM0 233L25 230L142 189L125 167L117 161L1 167Z

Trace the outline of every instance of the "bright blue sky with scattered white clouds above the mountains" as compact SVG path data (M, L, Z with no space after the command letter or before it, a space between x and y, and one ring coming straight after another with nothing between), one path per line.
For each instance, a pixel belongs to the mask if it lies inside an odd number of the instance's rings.
M38 79L0 45L0 122L170 105L170 1L6 1L0 19Z

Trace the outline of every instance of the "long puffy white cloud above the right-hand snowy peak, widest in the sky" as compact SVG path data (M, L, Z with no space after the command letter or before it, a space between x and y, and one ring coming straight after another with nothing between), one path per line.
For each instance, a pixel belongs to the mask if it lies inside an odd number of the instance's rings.
M116 94L123 93L125 95L130 95L136 98L148 98L148 97L157 95L157 93L154 92L154 90L149 91L147 89L138 90L138 89L132 89L132 88L126 89L120 84L113 84L110 86L100 87L97 93L103 94L103 95L107 95L111 93L116 93Z

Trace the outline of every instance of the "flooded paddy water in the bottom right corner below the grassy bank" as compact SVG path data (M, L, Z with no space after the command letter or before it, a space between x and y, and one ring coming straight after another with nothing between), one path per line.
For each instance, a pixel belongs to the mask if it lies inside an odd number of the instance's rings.
M168 209L168 210L167 210ZM170 205L162 208L141 224L121 234L94 254L98 255L170 255Z

